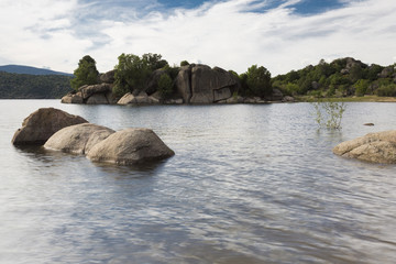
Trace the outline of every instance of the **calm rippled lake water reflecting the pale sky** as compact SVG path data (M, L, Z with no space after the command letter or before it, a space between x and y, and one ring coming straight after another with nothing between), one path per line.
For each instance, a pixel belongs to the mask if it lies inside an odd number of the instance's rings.
M176 155L117 167L12 146L42 107L151 128ZM331 148L396 129L396 103L349 103L341 132L311 110L0 100L0 263L395 263L396 166Z

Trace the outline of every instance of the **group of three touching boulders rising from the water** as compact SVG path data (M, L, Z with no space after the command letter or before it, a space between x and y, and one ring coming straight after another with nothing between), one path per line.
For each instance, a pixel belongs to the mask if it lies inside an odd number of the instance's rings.
M150 129L113 131L54 108L38 109L30 114L15 132L12 143L44 144L48 150L121 165L155 162L175 154Z

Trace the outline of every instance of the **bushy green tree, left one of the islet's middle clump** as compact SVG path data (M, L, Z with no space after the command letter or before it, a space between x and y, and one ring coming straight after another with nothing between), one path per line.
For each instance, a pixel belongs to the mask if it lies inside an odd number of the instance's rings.
M114 88L117 97L122 97L134 89L142 90L145 81L152 73L152 65L146 58L141 58L133 54L121 54L119 64L116 65Z

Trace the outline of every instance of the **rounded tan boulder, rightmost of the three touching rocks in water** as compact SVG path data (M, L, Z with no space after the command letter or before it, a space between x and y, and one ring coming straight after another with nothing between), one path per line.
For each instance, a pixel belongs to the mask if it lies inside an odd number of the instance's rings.
M120 165L154 162L175 153L150 129L125 129L109 135L87 154L94 162Z

